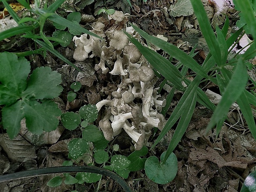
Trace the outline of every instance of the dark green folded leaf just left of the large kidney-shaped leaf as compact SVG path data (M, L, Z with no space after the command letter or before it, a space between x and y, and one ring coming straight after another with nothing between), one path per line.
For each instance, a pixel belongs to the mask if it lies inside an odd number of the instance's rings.
M129 171L140 171L144 168L147 158L140 158L145 156L148 152L147 147L143 146L139 151L132 152L127 159L131 162L128 166Z

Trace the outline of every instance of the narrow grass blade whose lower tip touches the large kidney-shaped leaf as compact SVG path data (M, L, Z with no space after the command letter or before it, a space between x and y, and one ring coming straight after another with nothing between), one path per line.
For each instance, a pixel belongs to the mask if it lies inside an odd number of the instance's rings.
M168 159L170 154L173 152L175 147L178 145L185 131L187 130L187 126L190 123L190 120L194 112L194 108L196 106L196 102L197 102L196 98L197 98L196 93L194 93L194 97L189 98L190 104L187 106L184 113L180 116L180 121L178 123L178 126L175 129L173 137L171 138L171 142L169 143L168 149L166 150L166 154L162 162L163 164Z

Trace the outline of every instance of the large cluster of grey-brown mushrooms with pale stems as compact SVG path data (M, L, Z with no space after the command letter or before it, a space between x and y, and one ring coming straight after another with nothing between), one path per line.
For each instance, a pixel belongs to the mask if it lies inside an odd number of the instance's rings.
M122 12L116 22L124 18ZM121 16L120 16L121 15ZM114 19L114 15L112 19ZM116 91L111 93L111 98L102 100L96 104L100 111L106 107L104 117L99 126L104 133L106 140L113 140L122 129L133 139L135 149L140 150L151 135L153 127L161 130L166 120L160 114L166 100L158 100L161 97L154 88L155 75L153 69L141 55L140 51L129 43L123 31L113 30L103 32L104 24L95 22L91 32L104 38L106 41L84 34L81 37L74 37L76 44L74 59L83 61L90 57L100 57L100 63L95 65L95 70L102 70L112 75L119 75L121 83ZM132 27L126 27L128 32L138 40L141 37ZM108 43L106 43L108 42ZM90 56L89 56L90 55Z

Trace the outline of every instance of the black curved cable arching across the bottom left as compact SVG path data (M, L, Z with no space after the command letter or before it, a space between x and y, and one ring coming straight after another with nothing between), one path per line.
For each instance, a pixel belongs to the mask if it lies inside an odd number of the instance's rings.
M94 167L94 166L62 166L62 167L47 167L38 168L28 171L20 171L17 173L10 173L6 175L0 175L0 183L7 182L17 179L36 177L40 175L48 175L51 173L71 173L71 172L89 172L105 175L115 180L126 192L133 192L129 185L123 180L119 175L108 171L104 168Z

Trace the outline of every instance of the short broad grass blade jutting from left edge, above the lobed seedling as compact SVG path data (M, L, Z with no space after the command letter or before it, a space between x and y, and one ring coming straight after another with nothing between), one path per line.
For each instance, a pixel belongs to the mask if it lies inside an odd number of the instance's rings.
M33 26L17 26L17 27L9 28L0 33L0 41L4 40L5 38L10 38L12 36L23 34L28 31L32 31L33 29L34 29Z

